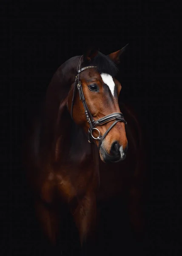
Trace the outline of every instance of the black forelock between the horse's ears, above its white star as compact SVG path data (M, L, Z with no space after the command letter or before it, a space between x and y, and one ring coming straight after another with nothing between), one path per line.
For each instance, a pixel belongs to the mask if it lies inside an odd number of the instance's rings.
M101 52L98 52L98 54L89 62L89 65L97 66L97 71L99 73L108 73L111 76L116 76L118 72L118 68L114 62Z

